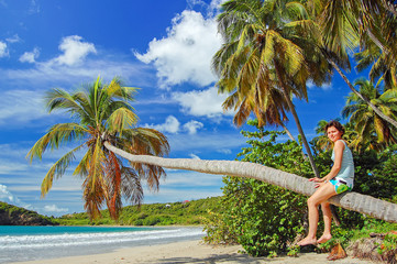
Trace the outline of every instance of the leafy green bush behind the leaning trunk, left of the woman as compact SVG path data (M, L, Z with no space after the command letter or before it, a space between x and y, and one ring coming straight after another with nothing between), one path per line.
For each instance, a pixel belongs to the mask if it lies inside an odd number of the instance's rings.
M256 121L249 121L257 131L243 131L250 146L239 154L242 161L260 163L285 172L312 177L308 161L297 142L277 142L283 132L264 131ZM275 256L285 252L297 233L304 231L306 197L255 179L224 177L220 231L209 230L207 241L219 241L228 234L254 256ZM218 235L218 237L217 237ZM230 242L230 241L228 241Z

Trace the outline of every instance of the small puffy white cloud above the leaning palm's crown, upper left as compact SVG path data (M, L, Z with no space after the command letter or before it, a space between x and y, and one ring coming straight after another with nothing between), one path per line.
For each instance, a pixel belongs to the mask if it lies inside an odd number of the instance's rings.
M60 56L56 57L54 62L60 65L75 65L84 61L90 54L97 53L92 43L82 42L82 37L78 35L70 35L62 38L59 51L64 52Z

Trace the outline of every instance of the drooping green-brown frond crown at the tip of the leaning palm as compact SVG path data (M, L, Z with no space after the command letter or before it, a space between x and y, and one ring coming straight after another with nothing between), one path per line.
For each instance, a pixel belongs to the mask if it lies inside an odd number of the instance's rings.
M158 179L165 176L162 167L141 163L126 166L122 158L103 146L101 135L133 154L165 155L169 145L166 138L152 129L135 128L137 117L129 101L136 88L123 87L114 78L109 85L100 78L81 90L67 92L53 89L46 94L48 112L66 111L76 122L58 123L41 138L27 153L30 161L42 158L44 152L59 148L66 143L77 144L60 157L47 172L42 183L44 197L53 185L54 177L62 177L78 151L86 151L78 162L74 175L84 179L85 209L91 218L100 216L107 204L110 216L117 219L122 207L122 197L133 204L143 198L141 180L146 180L151 189L158 189Z

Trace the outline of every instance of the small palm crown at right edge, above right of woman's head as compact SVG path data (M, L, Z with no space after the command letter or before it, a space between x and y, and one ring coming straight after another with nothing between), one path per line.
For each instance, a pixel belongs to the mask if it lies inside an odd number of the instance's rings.
M374 87L370 80L364 78L357 79L354 85L360 87L360 94L371 100L386 116L397 119L397 92L395 90L381 94L379 86ZM390 128L355 94L349 95L342 114L344 118L350 118L350 122L357 132L359 136L352 141L355 148L368 147L381 151L389 144L397 143L396 129Z

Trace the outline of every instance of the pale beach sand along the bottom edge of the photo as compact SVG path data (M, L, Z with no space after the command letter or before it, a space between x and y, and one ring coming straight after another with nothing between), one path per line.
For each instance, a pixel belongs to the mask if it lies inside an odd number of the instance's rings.
M240 245L208 245L203 244L200 240L186 241L169 244L157 244L151 246L135 246L129 249L121 249L111 253L84 255L84 256L70 256L53 260L40 260L32 262L18 262L19 264L126 264L126 263L229 263L229 264L242 264L242 263L271 263L271 264L284 264L284 263L300 263L300 264L320 264L320 263L345 263L345 264L363 264L367 261L361 261L357 258L346 257L338 261L328 261L328 254L317 253L301 253L298 257L252 257L247 254L241 253L242 248Z

